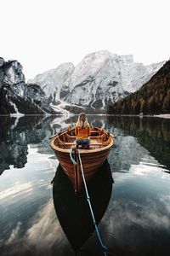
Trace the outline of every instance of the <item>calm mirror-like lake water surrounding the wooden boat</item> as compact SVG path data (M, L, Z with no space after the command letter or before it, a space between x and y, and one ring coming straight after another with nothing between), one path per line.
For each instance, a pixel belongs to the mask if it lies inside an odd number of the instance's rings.
M78 255L102 255L83 196L78 202L82 237L73 236L77 202L49 147L48 137L76 120L0 117L1 256L71 256L78 244L82 245ZM89 185L108 255L167 256L170 119L89 116L88 120L116 135L109 164Z

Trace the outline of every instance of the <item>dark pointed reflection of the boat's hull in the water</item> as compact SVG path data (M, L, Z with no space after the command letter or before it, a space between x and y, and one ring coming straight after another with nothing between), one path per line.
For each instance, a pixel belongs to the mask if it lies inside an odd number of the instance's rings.
M88 183L96 223L103 218L111 198L113 179L107 160ZM85 190L75 194L71 181L59 165L53 185L54 208L71 247L77 252L94 232Z

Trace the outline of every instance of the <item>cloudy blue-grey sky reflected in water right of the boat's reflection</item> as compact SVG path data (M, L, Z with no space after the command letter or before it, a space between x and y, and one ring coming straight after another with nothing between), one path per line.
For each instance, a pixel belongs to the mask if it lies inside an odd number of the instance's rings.
M102 233L116 255L167 255L169 176L161 177L159 167L151 175L140 176L136 176L141 172L139 166L133 169L135 172L126 175L120 172L114 175L114 197L103 219Z

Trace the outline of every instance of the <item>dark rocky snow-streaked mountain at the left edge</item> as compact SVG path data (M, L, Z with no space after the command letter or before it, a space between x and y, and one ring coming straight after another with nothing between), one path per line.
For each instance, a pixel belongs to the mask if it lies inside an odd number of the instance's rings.
M55 113L45 92L37 84L26 84L18 61L0 57L0 114Z

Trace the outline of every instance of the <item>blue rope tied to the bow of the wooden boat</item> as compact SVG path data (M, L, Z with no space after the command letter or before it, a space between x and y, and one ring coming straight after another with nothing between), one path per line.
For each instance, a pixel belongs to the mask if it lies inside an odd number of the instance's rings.
M105 247L105 245L103 244L102 240L101 240L101 236L99 235L99 229L98 229L98 226L96 224L96 220L94 218L94 211L93 211L93 208L92 208L92 205L91 205L91 201L90 201L90 196L88 195L88 187L87 187L87 184L86 184L86 180L85 180L85 177L84 177L84 172L83 172L83 168L82 168L82 159L81 159L81 155L80 155L80 152L79 150L77 149L77 152L78 152L78 159L79 159L79 162L80 162L80 166L81 166L81 172L82 172L82 180L83 180L83 183L84 183L84 188L85 188L85 191L86 191L86 195L87 195L87 201L88 201L88 207L90 209L90 212L91 212L91 215L92 215L92 218L93 218L93 223L94 223L94 227L95 227L95 230L96 230L96 234L98 236L98 239L99 239L99 244L103 250L103 255L107 256L107 247ZM73 165L77 165L77 162L73 159L72 157L72 150L70 152L70 157L71 157L71 162L73 163Z

